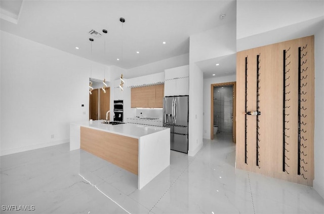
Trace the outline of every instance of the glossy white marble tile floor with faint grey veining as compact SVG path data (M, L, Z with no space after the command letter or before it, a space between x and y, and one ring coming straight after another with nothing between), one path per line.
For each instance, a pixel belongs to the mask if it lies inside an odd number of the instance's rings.
M1 213L324 213L311 187L235 169L224 134L194 157L171 151L171 165L141 190L137 176L69 144L0 161Z

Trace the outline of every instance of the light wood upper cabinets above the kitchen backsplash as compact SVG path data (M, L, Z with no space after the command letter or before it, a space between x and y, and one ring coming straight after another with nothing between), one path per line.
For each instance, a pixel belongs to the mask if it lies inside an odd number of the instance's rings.
M162 108L164 84L131 89L132 108Z

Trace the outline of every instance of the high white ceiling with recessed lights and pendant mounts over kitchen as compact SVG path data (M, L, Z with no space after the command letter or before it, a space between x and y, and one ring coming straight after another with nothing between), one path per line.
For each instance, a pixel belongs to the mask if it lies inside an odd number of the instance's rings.
M190 35L236 20L234 0L24 0L20 5L17 2L21 1L17 1L16 6L10 4L12 2L16 1L1 0L1 7L2 11L18 12L17 24L2 17L1 30L125 69L186 54ZM220 14L224 13L226 18L220 20ZM124 24L119 21L120 17L126 19ZM100 38L91 36L89 31L92 29L103 35ZM104 34L102 29L107 29L108 33ZM95 41L91 42L90 37ZM165 45L163 41L166 41ZM208 65L214 62L205 63L199 62L198 66L210 72L213 68ZM227 60L227 63L235 66L235 60Z

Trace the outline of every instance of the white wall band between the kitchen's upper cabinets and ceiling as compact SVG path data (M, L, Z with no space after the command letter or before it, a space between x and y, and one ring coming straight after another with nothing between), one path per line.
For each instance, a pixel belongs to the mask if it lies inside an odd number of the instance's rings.
M179 67L189 64L189 54L184 54L169 59L157 61L147 65L131 68L127 70L125 78L134 78L136 76L144 76L152 73L164 72L165 69Z

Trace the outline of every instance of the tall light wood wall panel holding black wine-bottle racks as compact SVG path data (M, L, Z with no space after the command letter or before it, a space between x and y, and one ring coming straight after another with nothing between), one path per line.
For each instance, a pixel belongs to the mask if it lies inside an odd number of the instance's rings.
M304 132L301 137L307 139L304 142L306 148L302 147L301 154L304 161L301 161L301 167L304 166L305 172L301 169L303 175L298 175L298 48L306 47L303 51L307 55L303 57L302 62L307 62L301 67L306 69L302 82L307 85L302 88L301 98L306 100L301 105L306 110L301 110L301 114L307 115L301 117L306 125L301 125ZM287 51L287 66L290 69L286 74L285 89L286 94L285 108L286 115L283 115L284 109L284 79L283 79L283 51ZM245 58L248 57L248 111L256 111L256 84L257 84L257 55L260 54L260 111L259 116L259 166L256 159L256 116L248 115L247 121L247 150L248 161L245 163ZM289 57L288 57L289 56ZM237 53L236 57L236 167L260 173L266 176L284 179L299 184L312 186L314 179L314 36L298 38L290 41L280 42L278 44L263 46L255 49L245 50ZM284 154L284 119L287 130L285 137L287 142L286 158ZM303 143L301 141L301 143ZM286 163L284 172L283 164ZM307 164L305 164L306 162Z

